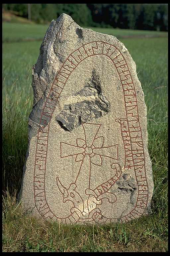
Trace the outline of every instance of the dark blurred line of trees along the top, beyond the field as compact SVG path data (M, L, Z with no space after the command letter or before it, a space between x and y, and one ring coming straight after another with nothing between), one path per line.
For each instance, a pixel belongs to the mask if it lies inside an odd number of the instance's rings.
M168 4L3 4L5 10L49 23L61 13L81 26L168 31Z

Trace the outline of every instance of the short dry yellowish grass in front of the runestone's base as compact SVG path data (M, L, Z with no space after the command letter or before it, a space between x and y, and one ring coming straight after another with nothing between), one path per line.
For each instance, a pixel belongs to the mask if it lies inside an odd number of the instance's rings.
M127 224L58 225L24 216L15 196L7 195L3 202L4 252L167 251L167 229L154 215Z

